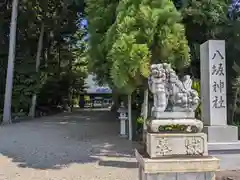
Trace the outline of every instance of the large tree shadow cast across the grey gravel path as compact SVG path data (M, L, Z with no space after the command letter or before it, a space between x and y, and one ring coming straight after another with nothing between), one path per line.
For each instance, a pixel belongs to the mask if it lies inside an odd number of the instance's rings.
M0 129L0 160L21 168L61 169L75 163L136 168L136 144L118 136L109 111L63 113Z

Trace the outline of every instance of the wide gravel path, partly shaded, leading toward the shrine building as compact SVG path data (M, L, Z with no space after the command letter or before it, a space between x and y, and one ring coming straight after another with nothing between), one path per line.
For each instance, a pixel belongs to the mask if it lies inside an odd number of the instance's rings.
M0 127L0 180L136 180L133 149L110 112Z

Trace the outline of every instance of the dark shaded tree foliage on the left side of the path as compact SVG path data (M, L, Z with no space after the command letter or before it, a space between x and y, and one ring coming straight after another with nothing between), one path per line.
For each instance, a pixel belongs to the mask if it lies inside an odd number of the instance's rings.
M13 111L24 109L27 112L31 97L36 93L39 94L38 104L49 105L49 102L60 104L59 99L68 96L70 91L82 90L86 60L82 48L73 46L81 40L80 34L85 33L77 27L83 5L71 0L19 1ZM0 5L0 113L4 101L11 6L11 1ZM42 25L43 48L37 73L36 56Z

